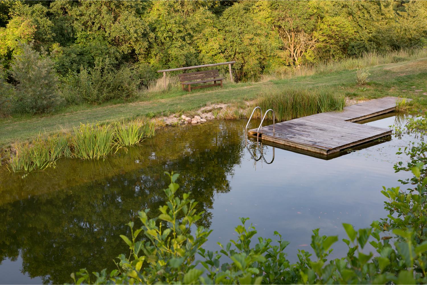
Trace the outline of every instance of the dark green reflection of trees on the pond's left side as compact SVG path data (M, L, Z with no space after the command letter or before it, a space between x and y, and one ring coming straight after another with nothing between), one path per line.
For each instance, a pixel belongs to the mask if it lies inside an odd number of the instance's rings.
M1 260L21 254L22 270L49 283L69 281L78 268L104 268L126 252L119 235L140 209L163 204L164 171L181 173L209 227L214 195L230 191L227 176L240 163L241 122L171 128L129 154L108 160L62 160L56 169L0 184Z

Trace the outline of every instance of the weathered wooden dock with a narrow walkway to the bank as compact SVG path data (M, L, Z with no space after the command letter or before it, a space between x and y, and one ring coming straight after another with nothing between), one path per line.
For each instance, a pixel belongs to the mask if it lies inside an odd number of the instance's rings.
M355 122L395 111L397 97L384 97L345 107L342 112L326 112L292 119L260 128L260 140L276 146L328 155L380 137L392 131ZM406 99L409 101L410 99ZM248 131L250 137L257 136L257 129Z

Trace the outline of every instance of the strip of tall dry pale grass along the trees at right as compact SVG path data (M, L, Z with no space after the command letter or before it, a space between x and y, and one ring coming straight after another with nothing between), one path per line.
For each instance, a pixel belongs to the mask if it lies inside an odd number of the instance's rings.
M341 70L354 70L379 64L397 63L427 57L427 49L401 49L391 52L364 52L359 58L345 58L338 61L327 61L316 65L284 67L261 75L260 81L290 79L296 76L330 73Z

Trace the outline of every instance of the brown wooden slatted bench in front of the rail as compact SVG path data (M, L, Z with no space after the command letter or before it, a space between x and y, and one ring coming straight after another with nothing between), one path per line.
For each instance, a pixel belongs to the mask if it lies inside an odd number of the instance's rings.
M219 78L219 71L217 69L183 73L178 76L179 76L179 81L181 82L181 85L182 85L182 90L187 90L188 92L191 92L191 89L213 87L218 85L221 85L222 87L222 80L225 79L225 78ZM216 83L216 81L219 81L220 83ZM192 84L208 83L208 82L213 82L213 84L205 84L205 85L191 87ZM187 85L187 89L185 89L184 87L185 85Z

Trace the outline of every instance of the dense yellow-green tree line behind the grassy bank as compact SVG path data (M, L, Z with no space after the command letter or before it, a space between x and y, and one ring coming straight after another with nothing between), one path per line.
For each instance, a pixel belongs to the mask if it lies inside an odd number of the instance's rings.
M234 60L247 81L426 45L427 1L0 1L3 93L22 80L17 61L30 61L68 104L127 99L164 68Z

